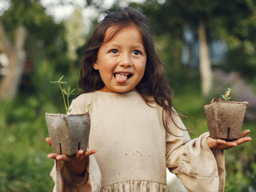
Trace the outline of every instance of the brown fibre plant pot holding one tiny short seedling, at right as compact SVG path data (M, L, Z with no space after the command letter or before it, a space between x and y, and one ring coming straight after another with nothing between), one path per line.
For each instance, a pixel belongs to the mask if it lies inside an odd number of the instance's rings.
M213 99L204 104L211 138L237 140L240 135L248 102Z

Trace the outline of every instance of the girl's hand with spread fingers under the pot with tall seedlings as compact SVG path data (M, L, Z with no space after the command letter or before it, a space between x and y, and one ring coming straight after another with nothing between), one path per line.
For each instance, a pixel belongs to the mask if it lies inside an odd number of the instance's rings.
M45 141L52 147L52 142L49 137L45 139ZM83 150L78 150L75 156L66 156L63 154L50 153L48 154L49 159L62 160L67 164L67 168L72 171L76 175L82 175L88 164L88 156L96 153L96 150L87 150L84 152Z

